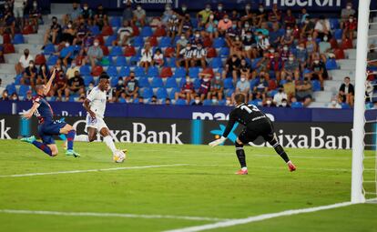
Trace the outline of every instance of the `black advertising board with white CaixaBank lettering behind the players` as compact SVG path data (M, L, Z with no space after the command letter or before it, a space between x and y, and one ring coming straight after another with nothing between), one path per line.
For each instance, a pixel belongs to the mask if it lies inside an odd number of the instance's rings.
M85 117L67 117L66 122L75 126L77 135L86 134ZM152 119L134 117L107 117L117 142L148 144L208 144L222 135L226 121L189 119ZM21 116L0 115L0 139L37 135L36 119L30 121ZM235 125L226 145L232 145L242 129ZM372 128L366 128L371 131ZM328 122L277 122L275 131L285 147L350 149L352 147L352 123ZM98 136L98 140L100 137ZM372 138L371 138L372 140ZM370 143L372 141L365 141ZM269 146L257 139L253 146Z

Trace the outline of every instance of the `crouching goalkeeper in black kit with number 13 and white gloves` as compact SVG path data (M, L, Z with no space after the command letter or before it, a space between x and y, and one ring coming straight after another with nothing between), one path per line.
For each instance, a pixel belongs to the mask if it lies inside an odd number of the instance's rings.
M236 154L239 158L239 165L241 166L241 169L236 174L248 174L248 167L246 166L245 151L243 150L243 146L253 142L259 136L262 136L264 140L273 146L275 151L287 163L291 172L295 171L296 166L293 165L283 147L280 145L270 118L261 112L257 106L245 104L245 96L242 94L236 95L235 101L236 107L230 112L228 126L225 129L224 134L219 139L209 143L209 146L218 146L224 143L234 124L239 122L239 124L245 127L237 137L235 143Z

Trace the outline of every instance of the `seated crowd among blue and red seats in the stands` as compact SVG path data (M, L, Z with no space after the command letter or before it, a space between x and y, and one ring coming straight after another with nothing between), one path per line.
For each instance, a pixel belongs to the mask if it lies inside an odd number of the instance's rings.
M259 106L309 106L328 70L337 68L335 58L352 48L357 29L352 3L338 19L314 17L305 8L293 14L278 5L246 4L237 11L221 3L196 15L187 5L166 5L160 16L148 16L128 1L121 17L108 16L102 5L74 3L67 15L43 22L37 1L11 0L4 7L5 37L50 24L41 54L25 49L15 64L15 83L30 86L23 99L46 84L54 67L58 75L49 96L58 101L83 101L107 72L109 102L230 106L240 93ZM3 100L18 98L0 90ZM346 77L331 107L352 106L353 93Z

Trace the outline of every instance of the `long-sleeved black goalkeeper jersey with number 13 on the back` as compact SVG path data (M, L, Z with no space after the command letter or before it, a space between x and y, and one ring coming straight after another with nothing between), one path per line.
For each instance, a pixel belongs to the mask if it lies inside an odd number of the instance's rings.
M257 106L247 104L236 106L229 114L229 122L222 136L227 137L236 122L248 126L250 123L266 117Z

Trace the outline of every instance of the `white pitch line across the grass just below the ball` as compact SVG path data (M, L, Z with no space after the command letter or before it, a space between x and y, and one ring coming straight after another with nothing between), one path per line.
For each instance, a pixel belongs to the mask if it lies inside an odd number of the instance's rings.
M45 175L57 175L57 174L86 173L86 172L107 172L107 171L117 171L117 170L127 170L127 169L144 169L144 168L168 167L168 166L189 166L189 164L158 165L158 166L121 166L121 167L110 167L110 168L102 168L102 169L25 173L25 174L15 174L15 175L4 175L0 177L32 177L32 176L45 176Z

